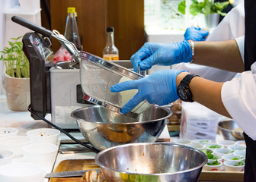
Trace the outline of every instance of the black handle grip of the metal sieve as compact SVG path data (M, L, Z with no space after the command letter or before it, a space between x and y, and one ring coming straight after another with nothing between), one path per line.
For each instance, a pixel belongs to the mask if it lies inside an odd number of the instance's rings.
M40 33L43 36L48 36L48 37L52 36L52 31L47 30L44 27L40 27L37 24L33 24L30 21L28 21L28 20L24 20L21 17L13 16L13 17L11 17L11 20L14 21L17 24L22 25L23 27L27 27L30 30L34 30L35 32Z

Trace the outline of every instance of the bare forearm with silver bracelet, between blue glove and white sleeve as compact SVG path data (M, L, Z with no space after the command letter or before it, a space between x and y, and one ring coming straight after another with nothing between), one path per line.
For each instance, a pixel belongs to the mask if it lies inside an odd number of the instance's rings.
M226 71L242 72L244 63L235 39L220 42L194 42L195 64Z

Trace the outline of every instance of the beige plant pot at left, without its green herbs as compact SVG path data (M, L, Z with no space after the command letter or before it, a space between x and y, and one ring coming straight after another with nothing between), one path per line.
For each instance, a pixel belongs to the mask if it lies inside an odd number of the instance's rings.
M3 75L8 107L13 111L27 111L30 105L30 78L10 77Z

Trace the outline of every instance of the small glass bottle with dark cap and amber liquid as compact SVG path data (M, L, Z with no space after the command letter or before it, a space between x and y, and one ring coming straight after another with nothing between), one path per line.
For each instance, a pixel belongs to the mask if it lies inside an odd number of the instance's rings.
M114 45L114 27L107 27L107 44L102 51L102 55L108 61L119 60L118 49Z

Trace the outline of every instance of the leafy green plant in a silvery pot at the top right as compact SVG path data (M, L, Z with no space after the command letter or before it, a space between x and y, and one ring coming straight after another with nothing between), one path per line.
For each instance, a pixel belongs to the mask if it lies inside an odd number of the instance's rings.
M189 11L193 16L196 16L197 14L204 14L206 19L206 27L213 28L219 23L219 15L226 15L226 13L222 12L222 10L228 5L229 1L214 2L213 0L191 0ZM186 0L180 2L178 5L178 11L180 11L181 14L186 13L185 9Z

